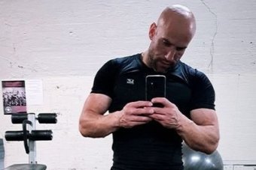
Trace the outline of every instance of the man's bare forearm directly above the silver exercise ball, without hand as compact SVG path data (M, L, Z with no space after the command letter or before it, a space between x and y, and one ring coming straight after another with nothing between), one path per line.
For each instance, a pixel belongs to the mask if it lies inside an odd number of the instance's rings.
M219 134L216 126L198 125L183 115L177 132L190 148L211 154L218 147Z

